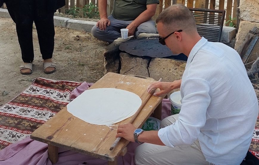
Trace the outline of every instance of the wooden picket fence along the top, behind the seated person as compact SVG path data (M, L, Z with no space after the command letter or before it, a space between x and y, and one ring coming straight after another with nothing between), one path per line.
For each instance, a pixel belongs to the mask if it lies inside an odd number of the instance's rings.
M114 0L107 0L107 14L110 15L112 9L113 9L113 1ZM226 22L229 20L229 15L231 18L237 18L237 7L238 7L238 0L218 0L219 1L219 7L215 7L216 0L159 0L160 4L157 5L156 14L153 17L153 19L156 19L157 16L163 11L163 9L171 6L172 4L183 4L190 8L203 8L203 9L218 9L218 10L224 10L226 8ZM227 2L227 6L225 7L225 1ZM233 4L234 1L234 4ZM69 0L66 0L65 7L62 7L60 9L60 12L65 12L65 9L69 9L72 7L79 7L83 8L86 4L89 3L96 4L98 7L98 0L70 0L70 6L69 6ZM209 5L210 4L210 5ZM233 10L232 10L232 4L233 4ZM80 12L80 15L82 16L82 12ZM236 25L237 20L233 20L233 23ZM228 26L228 24L226 25Z

